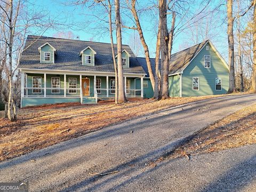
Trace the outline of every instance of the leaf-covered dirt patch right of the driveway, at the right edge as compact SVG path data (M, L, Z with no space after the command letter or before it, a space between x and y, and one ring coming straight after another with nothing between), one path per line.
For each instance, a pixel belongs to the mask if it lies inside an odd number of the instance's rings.
M211 153L256 143L256 105L246 107L206 127L169 158Z

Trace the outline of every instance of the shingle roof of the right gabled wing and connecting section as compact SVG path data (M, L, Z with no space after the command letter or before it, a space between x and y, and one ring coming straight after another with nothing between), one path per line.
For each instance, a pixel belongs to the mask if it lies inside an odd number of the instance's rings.
M199 43L197 45L191 46L188 49L179 51L177 53L172 54L171 57L171 65L169 68L169 74L181 73L183 69L187 67L189 62L194 58L194 56L202 49L202 47L208 43L209 40ZM145 58L137 58L142 68L146 71L148 76L148 68ZM151 66L153 72L155 70L155 59L150 58Z

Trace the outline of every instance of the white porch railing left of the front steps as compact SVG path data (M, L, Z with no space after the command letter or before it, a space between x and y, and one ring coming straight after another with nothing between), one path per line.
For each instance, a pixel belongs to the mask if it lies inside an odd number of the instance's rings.
M65 89L25 87L24 97L65 97ZM66 89L66 97L80 97L80 89Z

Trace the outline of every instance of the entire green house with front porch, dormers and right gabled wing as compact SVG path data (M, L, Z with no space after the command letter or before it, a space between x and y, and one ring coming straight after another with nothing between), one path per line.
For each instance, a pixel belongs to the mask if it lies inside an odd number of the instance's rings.
M116 50L116 45L115 50ZM123 45L127 98L151 98L153 88L145 58ZM229 71L210 41L172 55L171 97L226 93ZM151 59L154 68L154 59ZM21 107L45 103L97 103L115 97L111 44L42 36L28 36L22 54Z

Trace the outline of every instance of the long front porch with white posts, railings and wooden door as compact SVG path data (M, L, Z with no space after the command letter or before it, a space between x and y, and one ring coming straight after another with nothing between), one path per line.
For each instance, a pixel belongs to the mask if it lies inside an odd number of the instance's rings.
M124 76L127 98L143 98L143 77ZM142 89L141 89L142 87ZM21 73L21 106L46 103L97 103L115 97L115 77Z

